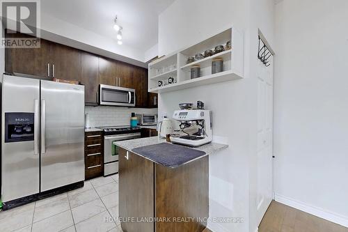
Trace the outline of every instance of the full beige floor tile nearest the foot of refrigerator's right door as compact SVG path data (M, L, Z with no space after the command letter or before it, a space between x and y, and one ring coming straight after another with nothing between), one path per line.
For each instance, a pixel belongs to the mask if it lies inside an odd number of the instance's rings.
M58 215L58 213L66 210L70 210L68 198L47 203L44 206L35 207L33 222L38 222L47 217Z

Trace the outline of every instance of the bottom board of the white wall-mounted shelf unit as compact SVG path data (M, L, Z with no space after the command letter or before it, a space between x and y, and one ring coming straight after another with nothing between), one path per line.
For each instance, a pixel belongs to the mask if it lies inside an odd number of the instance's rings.
M208 75L205 77L198 77L195 79L189 79L184 82L178 82L175 84L167 84L166 86L161 86L157 88L150 89L152 93L166 93L171 91L177 91L185 88L194 88L197 86L205 86L207 84L214 84L219 82L228 82L235 79L241 79L239 75L236 75L231 70L225 72L215 73L214 75Z

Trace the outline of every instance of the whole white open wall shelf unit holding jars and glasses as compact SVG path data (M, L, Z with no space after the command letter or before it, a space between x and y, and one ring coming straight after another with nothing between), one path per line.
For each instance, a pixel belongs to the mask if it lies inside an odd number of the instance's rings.
M206 57L199 61L194 61L187 64L187 59L190 56L195 56L198 53L203 53L207 49L212 49L217 45L226 45L226 42L231 40L232 49L229 49L213 56ZM212 60L216 58L223 59L223 72L212 75ZM175 70L165 72L161 75L153 75L154 70L166 68L173 63L177 64ZM200 75L196 79L191 79L191 67L200 65ZM244 34L237 31L234 27L228 27L221 30L219 33L202 40L195 45L191 45L181 49L168 56L161 57L157 61L149 63L149 82L148 91L152 93L166 93L177 91L185 88L194 88L207 84L219 82L229 82L235 79L243 78L244 69ZM158 80L166 80L168 77L175 77L177 83L158 86Z

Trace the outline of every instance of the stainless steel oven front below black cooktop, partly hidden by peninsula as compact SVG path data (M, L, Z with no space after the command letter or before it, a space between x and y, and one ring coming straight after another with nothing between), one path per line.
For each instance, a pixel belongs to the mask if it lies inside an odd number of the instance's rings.
M118 173L118 146L113 144L114 141L139 139L140 132L131 134L114 134L104 136L104 176Z

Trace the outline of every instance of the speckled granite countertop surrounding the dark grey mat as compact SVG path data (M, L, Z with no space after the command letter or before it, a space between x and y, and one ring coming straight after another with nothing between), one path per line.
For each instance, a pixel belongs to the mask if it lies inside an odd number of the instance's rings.
M149 146L149 145L155 145L155 144L161 144L161 143L166 143L166 139L159 139L159 137L148 137L148 138L143 138L143 139L132 139L132 140L124 140L124 141L115 141L115 142L113 142L113 144L115 144L117 146L120 146L121 148L124 148L124 149L129 150L129 151L132 151L134 148L141 148L143 146ZM171 144L171 143L169 143L169 144ZM198 157L198 158L202 158L202 157L205 157L207 155L212 155L212 154L218 152L219 150L225 150L226 148L228 148L228 145L227 144L209 143L209 144L205 144L205 145L202 145L202 146L199 146L199 147L196 147L196 148L190 148L188 146L184 146L184 147L185 148L189 148L189 149L203 151L205 153L205 155L202 155L202 156ZM136 155L140 155L140 154L136 153ZM140 156L141 157L145 157L143 155L140 155ZM164 165L159 160L153 160L153 159L151 159L149 157L145 157L145 158L150 160L150 161L152 161L152 162L155 162L156 164ZM198 158L195 158L195 159L192 159L192 160L188 160L184 164L192 162L193 160L197 160ZM184 164L182 164L182 165L184 165ZM172 165L171 167L168 167L168 168L175 168L175 167L179 167L179 166Z

